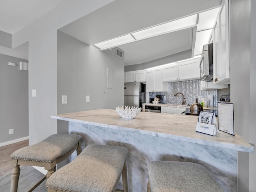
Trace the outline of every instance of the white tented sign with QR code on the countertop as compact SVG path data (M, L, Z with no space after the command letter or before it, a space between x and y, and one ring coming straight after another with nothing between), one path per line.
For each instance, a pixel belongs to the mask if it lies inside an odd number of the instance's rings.
M214 136L219 132L215 113L201 111L196 124L196 132Z

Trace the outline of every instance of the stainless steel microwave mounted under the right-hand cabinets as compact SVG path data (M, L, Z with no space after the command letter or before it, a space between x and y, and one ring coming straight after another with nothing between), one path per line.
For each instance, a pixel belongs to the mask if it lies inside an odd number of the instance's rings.
M213 80L213 44L203 46L202 58L200 60L200 76L201 81Z

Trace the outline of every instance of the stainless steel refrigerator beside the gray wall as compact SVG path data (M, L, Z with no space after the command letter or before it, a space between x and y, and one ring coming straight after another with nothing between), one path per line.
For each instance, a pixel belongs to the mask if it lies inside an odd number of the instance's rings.
M146 102L146 84L124 83L124 106L141 107Z

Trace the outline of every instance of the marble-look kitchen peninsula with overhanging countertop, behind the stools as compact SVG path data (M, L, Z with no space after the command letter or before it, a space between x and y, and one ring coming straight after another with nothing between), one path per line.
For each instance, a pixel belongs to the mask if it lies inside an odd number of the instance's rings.
M147 164L153 160L202 164L224 190L236 192L237 151L254 152L238 134L196 132L198 116L140 112L123 119L115 110L102 109L51 117L68 121L69 133L83 136L82 149L91 143L126 147L129 192L146 191Z

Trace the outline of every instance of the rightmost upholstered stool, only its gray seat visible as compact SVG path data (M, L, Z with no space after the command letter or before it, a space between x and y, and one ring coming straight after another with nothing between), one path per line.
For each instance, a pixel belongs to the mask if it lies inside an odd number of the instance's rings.
M202 165L152 161L148 164L148 192L224 192Z

